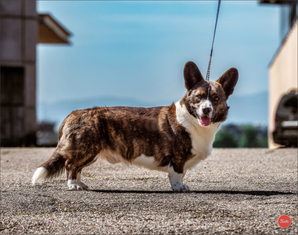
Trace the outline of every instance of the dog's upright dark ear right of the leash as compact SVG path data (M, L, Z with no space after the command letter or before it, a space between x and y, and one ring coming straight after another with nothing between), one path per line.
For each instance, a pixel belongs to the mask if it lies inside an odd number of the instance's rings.
M218 82L222 88L224 89L224 92L226 93L226 99L230 95L232 95L234 88L238 81L238 70L236 68L229 68L226 70L226 72L221 75L221 77L216 81Z

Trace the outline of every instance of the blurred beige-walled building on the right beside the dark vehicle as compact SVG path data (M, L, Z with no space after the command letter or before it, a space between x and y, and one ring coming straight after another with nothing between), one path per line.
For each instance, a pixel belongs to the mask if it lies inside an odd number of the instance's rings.
M298 85L298 1L260 1L280 7L280 47L269 64L268 147L278 147L273 142L275 114L281 97Z

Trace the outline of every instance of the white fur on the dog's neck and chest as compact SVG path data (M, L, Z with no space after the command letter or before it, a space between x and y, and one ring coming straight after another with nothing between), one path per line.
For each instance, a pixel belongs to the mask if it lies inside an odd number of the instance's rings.
M177 121L185 127L192 140L192 153L195 156L184 165L184 169L189 169L211 154L212 143L220 123L211 123L211 125L204 127L200 125L198 119L190 115L185 105L180 105L180 101L176 102L175 105Z

